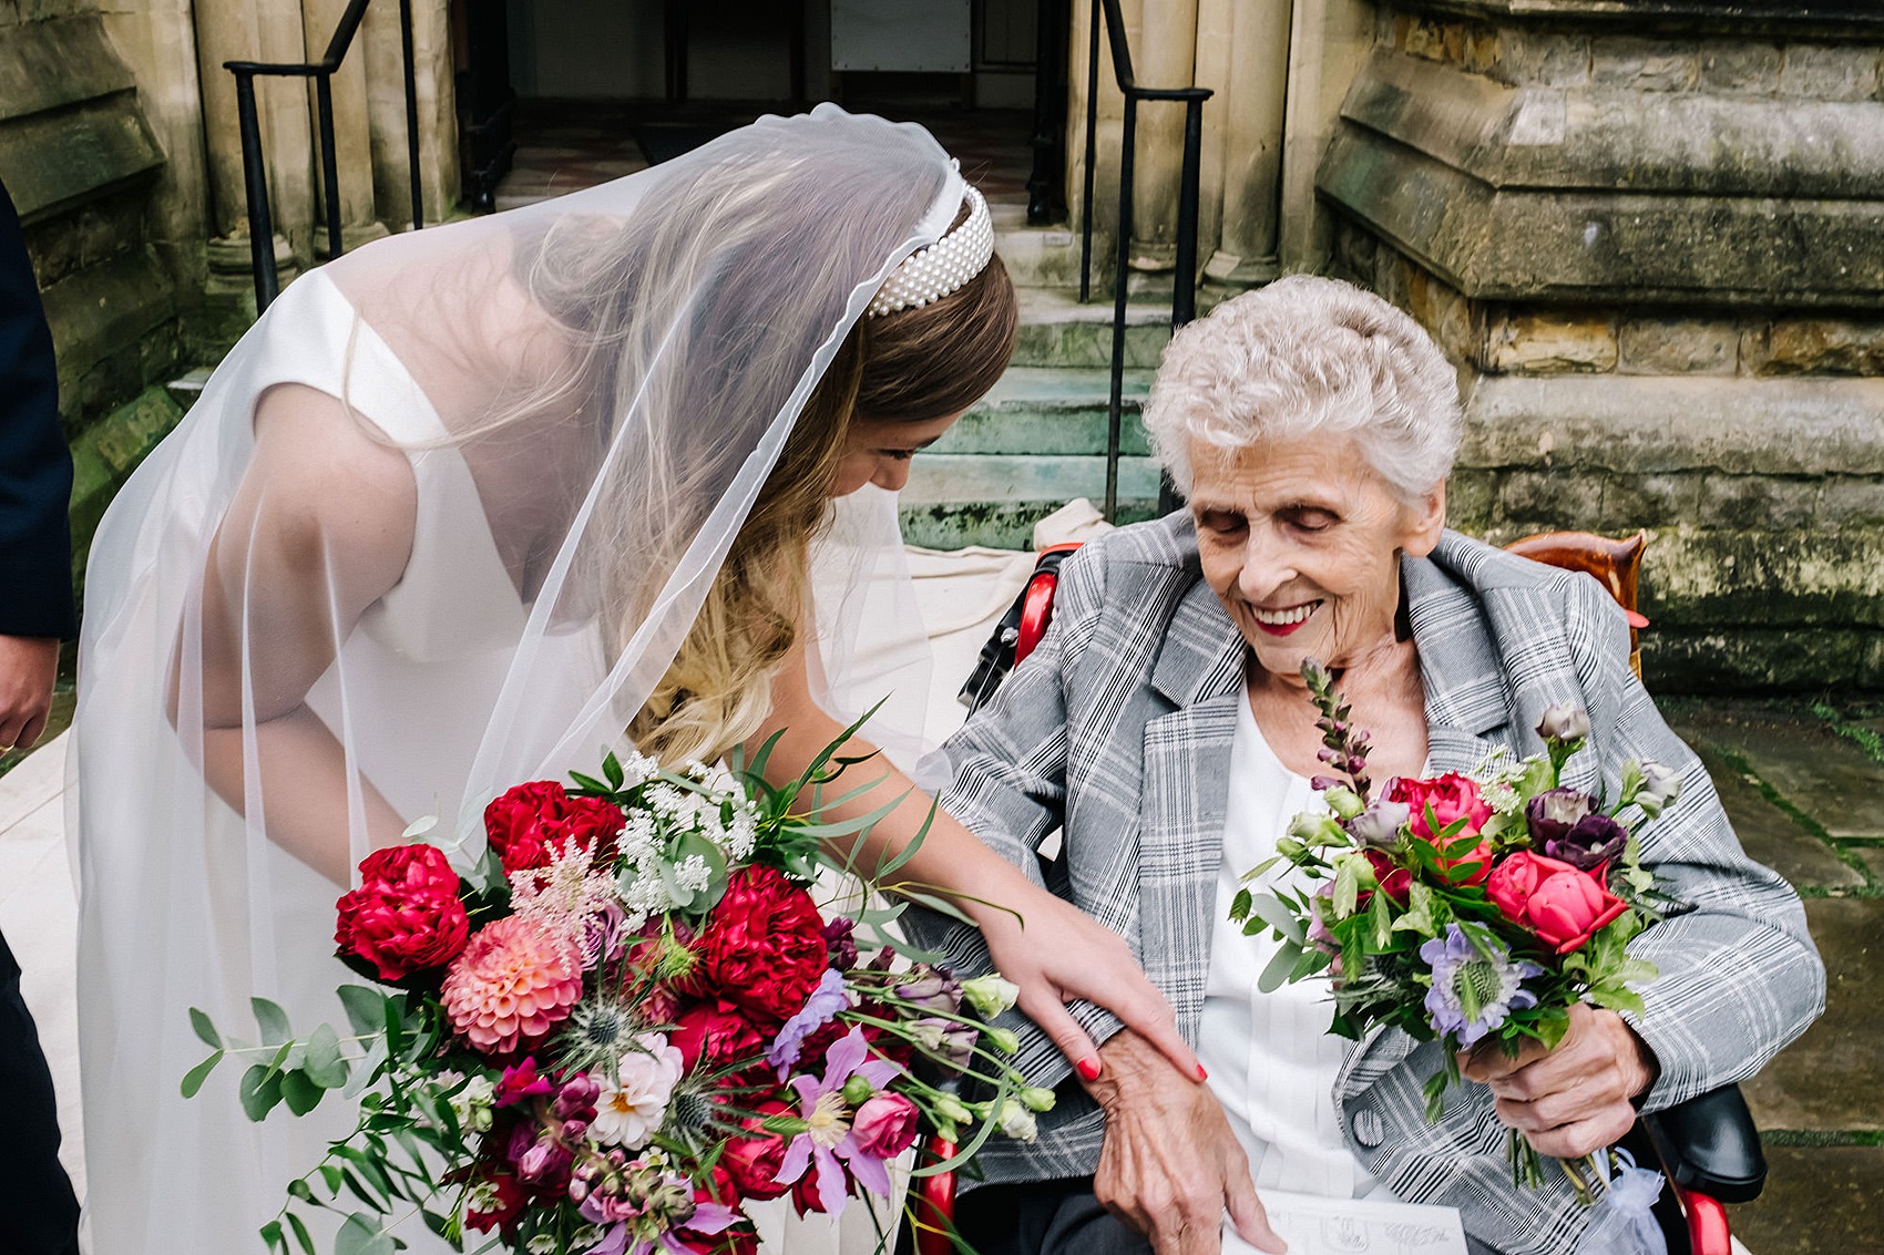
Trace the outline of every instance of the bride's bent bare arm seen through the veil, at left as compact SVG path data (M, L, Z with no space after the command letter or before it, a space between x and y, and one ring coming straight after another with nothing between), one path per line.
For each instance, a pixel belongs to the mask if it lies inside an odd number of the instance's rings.
M418 490L405 454L367 437L324 392L269 388L254 432L254 458L203 571L200 676L188 633L177 643L171 722L187 742L202 731L203 778L230 807L251 810L252 771L269 839L345 886L347 761L307 707L307 692L360 614L405 571ZM245 676L252 763L243 744ZM364 780L362 805L369 844L396 840L403 820Z

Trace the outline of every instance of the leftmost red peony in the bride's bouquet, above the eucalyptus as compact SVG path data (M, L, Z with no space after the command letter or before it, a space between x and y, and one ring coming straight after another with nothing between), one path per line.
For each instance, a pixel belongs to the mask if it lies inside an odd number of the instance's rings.
M450 963L471 920L458 901L458 872L437 846L392 846L360 859L360 888L335 903L341 957L371 963L381 980Z

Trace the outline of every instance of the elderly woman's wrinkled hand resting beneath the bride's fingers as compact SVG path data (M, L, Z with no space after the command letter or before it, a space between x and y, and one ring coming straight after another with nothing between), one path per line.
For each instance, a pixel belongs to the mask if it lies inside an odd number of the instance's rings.
M1106 1146L1093 1193L1145 1234L1157 1255L1217 1255L1223 1214L1262 1251L1289 1249L1257 1198L1249 1157L1217 1097L1179 1076L1130 1029L1100 1050L1106 1068L1087 1089L1106 1110Z

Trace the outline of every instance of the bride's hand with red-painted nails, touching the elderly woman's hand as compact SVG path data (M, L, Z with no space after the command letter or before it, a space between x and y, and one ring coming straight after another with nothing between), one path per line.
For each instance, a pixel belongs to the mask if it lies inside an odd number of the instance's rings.
M1145 978L1130 946L1078 906L1023 882L1000 906L965 905L980 923L995 969L1019 986L1015 1004L1053 1038L1066 1061L1091 1082L1098 1046L1066 1010L1070 1001L1104 1006L1157 1046L1176 1068L1204 1080L1204 1065L1178 1033L1178 1014ZM1012 910L1004 910L1012 908Z

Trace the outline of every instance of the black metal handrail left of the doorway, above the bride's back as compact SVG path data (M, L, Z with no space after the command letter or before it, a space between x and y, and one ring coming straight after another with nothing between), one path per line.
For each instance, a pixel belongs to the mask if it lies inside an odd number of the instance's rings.
M281 296L275 269L275 215L268 204L268 164L262 158L262 122L254 107L256 77L313 79L320 113L320 179L328 202L328 256L341 254L341 170L333 153L333 73L347 58L352 38L365 19L367 0L352 0L341 13L328 51L317 62L279 64L264 60L224 60L236 75L236 113L241 122L241 177L249 194L249 260L254 266L254 311L262 313ZM418 81L413 70L413 0L399 0L399 51L405 55L405 160L413 179L413 230L426 224L426 205L418 179Z

